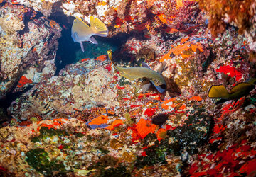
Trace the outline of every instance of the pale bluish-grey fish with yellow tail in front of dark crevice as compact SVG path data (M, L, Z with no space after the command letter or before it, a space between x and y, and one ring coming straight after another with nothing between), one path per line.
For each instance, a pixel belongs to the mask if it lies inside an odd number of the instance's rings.
M93 16L90 16L90 27L81 18L75 17L71 29L71 37L74 42L80 42L82 52L85 52L82 45L83 41L90 41L93 44L97 44L97 41L92 35L106 37L108 35L107 26L99 18L94 18Z

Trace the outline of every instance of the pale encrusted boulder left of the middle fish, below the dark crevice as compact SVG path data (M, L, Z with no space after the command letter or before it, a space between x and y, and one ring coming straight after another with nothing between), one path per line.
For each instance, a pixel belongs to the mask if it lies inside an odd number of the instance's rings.
M16 120L26 120L33 115L48 118L85 108L117 106L117 92L112 89L113 74L105 69L106 65L106 62L88 59L68 65L59 76L44 75L33 89L11 104L9 113Z

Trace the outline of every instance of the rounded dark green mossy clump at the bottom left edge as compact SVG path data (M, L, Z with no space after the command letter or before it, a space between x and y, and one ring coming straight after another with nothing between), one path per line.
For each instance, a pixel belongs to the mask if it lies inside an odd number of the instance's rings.
M60 161L55 159L50 161L48 153L42 148L31 149L26 152L26 162L44 176L53 176L53 172L58 174L67 172Z

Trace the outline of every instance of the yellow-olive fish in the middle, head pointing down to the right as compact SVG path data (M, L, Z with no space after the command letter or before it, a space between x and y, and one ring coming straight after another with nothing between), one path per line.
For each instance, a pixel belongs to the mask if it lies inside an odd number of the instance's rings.
M131 81L135 79L146 79L147 83L142 83L143 92L149 89L151 84L153 84L160 93L164 93L166 90L164 77L151 69L148 64L142 63L142 67L119 67L117 64L114 64L112 60L112 50L107 50L107 56L121 76ZM162 71L164 71L164 69L161 69L161 72Z

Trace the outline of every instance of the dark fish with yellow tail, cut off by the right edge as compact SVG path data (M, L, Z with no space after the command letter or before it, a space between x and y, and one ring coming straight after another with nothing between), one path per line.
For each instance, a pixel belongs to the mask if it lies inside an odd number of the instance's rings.
M228 92L227 89L223 85L219 86L211 86L208 91L209 98L221 98L215 104L218 105L220 103L224 103L229 100L238 101L242 96L247 96L252 89L255 88L256 78L247 79L245 82L236 84L232 89ZM236 103L235 101L235 103ZM235 105L235 104L234 104Z

